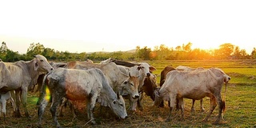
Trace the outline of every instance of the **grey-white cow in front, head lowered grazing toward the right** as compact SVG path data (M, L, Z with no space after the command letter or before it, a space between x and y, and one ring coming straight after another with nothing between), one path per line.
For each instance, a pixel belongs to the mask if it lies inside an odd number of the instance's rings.
M59 127L57 119L56 107L65 97L70 100L83 100L86 101L87 115L90 122L95 124L94 121L94 106L96 100L101 102L102 106L109 106L114 114L120 118L126 118L126 105L119 94L115 94L114 90L107 82L106 76L102 70L92 68L89 70L65 69L58 68L47 74L43 82L43 90L40 95L40 106L38 108L38 125L41 126L42 114L48 104L45 98L46 94L46 78L48 80L48 88L52 93L53 102L50 107L50 112L54 119L54 125Z

